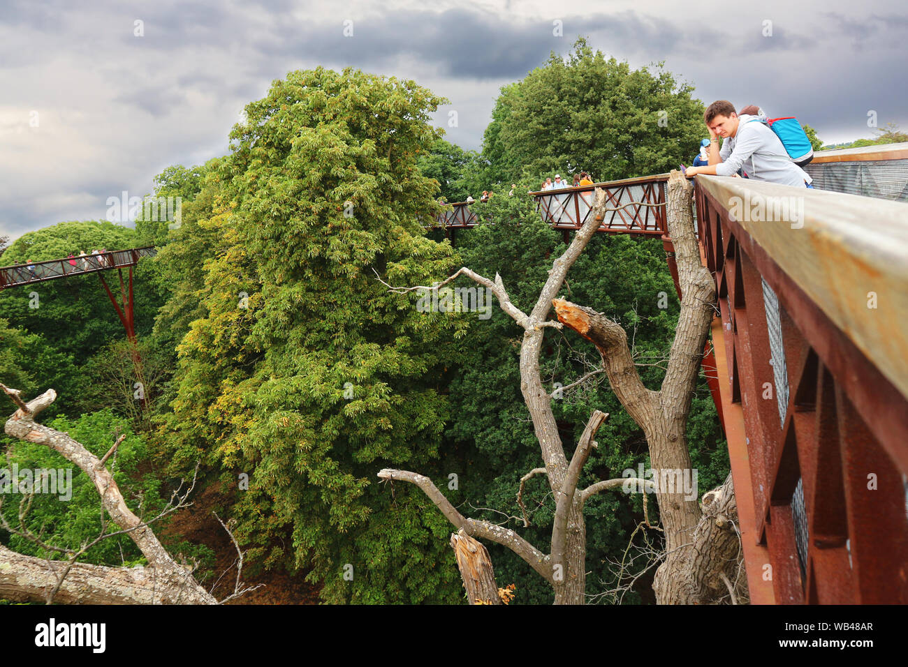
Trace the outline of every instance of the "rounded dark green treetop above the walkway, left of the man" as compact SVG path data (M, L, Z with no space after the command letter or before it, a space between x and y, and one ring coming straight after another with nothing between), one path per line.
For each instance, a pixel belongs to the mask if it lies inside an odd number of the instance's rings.
M632 70L579 38L567 58L503 88L483 152L502 181L591 172L613 181L667 172L696 153L703 104L661 69Z

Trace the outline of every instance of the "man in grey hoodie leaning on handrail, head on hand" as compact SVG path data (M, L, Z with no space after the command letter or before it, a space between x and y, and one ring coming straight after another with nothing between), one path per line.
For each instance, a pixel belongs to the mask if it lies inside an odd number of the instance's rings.
M732 103L726 100L710 104L703 114L709 128L709 164L689 167L687 176L698 173L734 176L743 167L747 177L756 181L811 187L813 179L792 162L782 140L760 122L761 118L746 113L739 116ZM725 139L721 150L719 137Z

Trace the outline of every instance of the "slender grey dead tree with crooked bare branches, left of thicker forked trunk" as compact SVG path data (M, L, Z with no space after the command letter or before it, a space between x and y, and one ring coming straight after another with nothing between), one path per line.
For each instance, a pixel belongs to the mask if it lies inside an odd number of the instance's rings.
M636 204L637 202L631 203ZM631 205L631 203L617 208L624 208ZM542 383L542 376L539 371L539 354L542 349L544 329L546 327L562 328L560 322L548 319L548 315L552 309L553 299L558 295L558 290L561 289L568 270L597 231L605 212L616 210L607 207L606 192L597 190L593 214L589 216L583 227L577 231L568 250L552 264L551 270L548 271L548 280L546 280L539 293L536 305L529 314L518 309L511 302L504 283L498 274L496 274L495 280L489 280L469 270L467 267L463 267L447 280L443 280L432 287L418 286L407 288L392 287L379 278L390 290L397 293L406 293L418 289L426 291L437 290L459 276L466 276L495 294L500 308L524 330L523 344L520 348L520 391L527 404L529 415L533 422L533 429L541 449L542 459L545 462L545 468L537 470L539 474L544 473L547 476L548 485L555 495L557 504L550 553L542 554L536 547L529 544L512 530L460 515L426 476L390 468L381 470L379 476L383 479L401 480L419 486L449 521L458 528L463 529L464 533L472 537L484 537L492 542L508 546L511 551L518 554L552 585L556 604L583 604L585 602L587 529L583 517L583 504L588 495L606 488L607 485L600 483L591 493L587 493L588 490L577 492L577 481L591 448L596 446L593 437L596 436L598 427L605 422L607 415L597 410L589 418L583 436L577 443L574 454L568 464L564 444L558 435L558 425L552 411L552 396L546 391ZM376 273L376 275L378 274ZM612 482L617 482L617 486L626 481L633 480L612 480ZM644 482L640 480L640 484L644 484Z

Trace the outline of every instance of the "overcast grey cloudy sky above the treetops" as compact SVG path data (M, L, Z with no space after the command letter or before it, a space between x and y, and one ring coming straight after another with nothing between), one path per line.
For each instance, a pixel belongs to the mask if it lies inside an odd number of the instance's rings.
M908 130L906 6L0 0L0 235L104 220L108 197L142 196L164 167L226 153L245 103L319 64L447 97L437 124L457 111L446 138L468 149L498 89L577 35L632 67L665 61L704 103L796 115L824 142L873 136L870 112Z

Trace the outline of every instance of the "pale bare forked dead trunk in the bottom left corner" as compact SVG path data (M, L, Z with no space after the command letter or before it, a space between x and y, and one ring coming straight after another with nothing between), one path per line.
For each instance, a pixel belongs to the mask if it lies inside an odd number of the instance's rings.
M49 407L56 398L54 389L25 404L19 392L0 385L19 407L5 424L5 432L54 449L64 458L79 466L92 480L101 496L104 510L114 524L142 551L148 565L138 568L99 567L73 564L66 573L57 595L61 602L72 603L183 603L214 604L217 601L205 591L186 568L173 561L158 541L149 525L126 506L123 495L104 462L111 452L99 459L82 443L68 434L35 422L35 417ZM119 442L118 442L119 444ZM58 584L55 574L64 571L67 564L31 558L0 547L0 596L14 600L45 601L48 590Z

